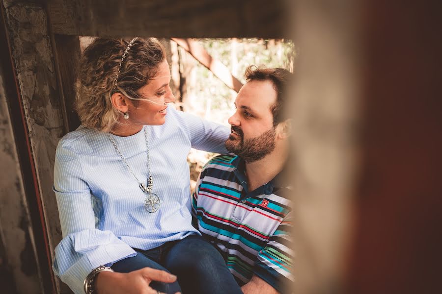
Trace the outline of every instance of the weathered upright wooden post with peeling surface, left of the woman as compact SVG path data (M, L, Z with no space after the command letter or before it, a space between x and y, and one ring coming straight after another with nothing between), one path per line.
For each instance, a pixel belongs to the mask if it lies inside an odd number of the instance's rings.
M7 34L3 42L4 46L9 45L12 54L12 58L9 57L12 72L8 76L12 82L6 87L15 87L16 90L14 96L6 98L8 104L16 105L19 109L12 113L12 122L20 162L28 163L21 169L29 203L28 216L34 232L41 292L51 293L55 291L51 256L55 245L61 240L58 210L52 191L53 169L55 148L65 132L65 123L46 10L39 2L4 0L1 4ZM26 149L20 149L24 146ZM21 268L26 269L27 266L23 262ZM37 289L34 291L41 293Z

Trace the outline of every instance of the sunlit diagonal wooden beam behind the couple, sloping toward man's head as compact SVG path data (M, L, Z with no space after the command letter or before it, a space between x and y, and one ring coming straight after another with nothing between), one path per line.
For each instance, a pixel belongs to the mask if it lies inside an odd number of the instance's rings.
M234 77L221 61L212 58L204 47L192 39L172 38L179 46L188 51L196 60L214 73L230 89L239 92L243 84Z

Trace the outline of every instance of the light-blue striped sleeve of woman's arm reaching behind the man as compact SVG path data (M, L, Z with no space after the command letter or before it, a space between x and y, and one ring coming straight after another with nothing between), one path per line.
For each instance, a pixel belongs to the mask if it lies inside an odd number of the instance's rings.
M221 154L228 153L224 147L225 140L230 135L228 127L219 123L204 121L190 113L178 112L187 127L193 148Z

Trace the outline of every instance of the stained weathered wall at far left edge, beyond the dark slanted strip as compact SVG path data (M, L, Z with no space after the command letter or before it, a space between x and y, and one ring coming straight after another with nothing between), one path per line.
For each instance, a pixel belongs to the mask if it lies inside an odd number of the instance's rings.
M4 53L2 50L1 53ZM42 292L32 223L0 66L0 291Z

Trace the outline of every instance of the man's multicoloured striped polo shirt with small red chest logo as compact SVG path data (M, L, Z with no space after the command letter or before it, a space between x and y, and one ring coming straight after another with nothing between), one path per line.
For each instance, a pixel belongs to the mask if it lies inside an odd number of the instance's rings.
M193 225L217 246L240 286L254 274L283 292L292 280L287 192L278 176L248 191L245 163L233 153L204 166L193 193Z

